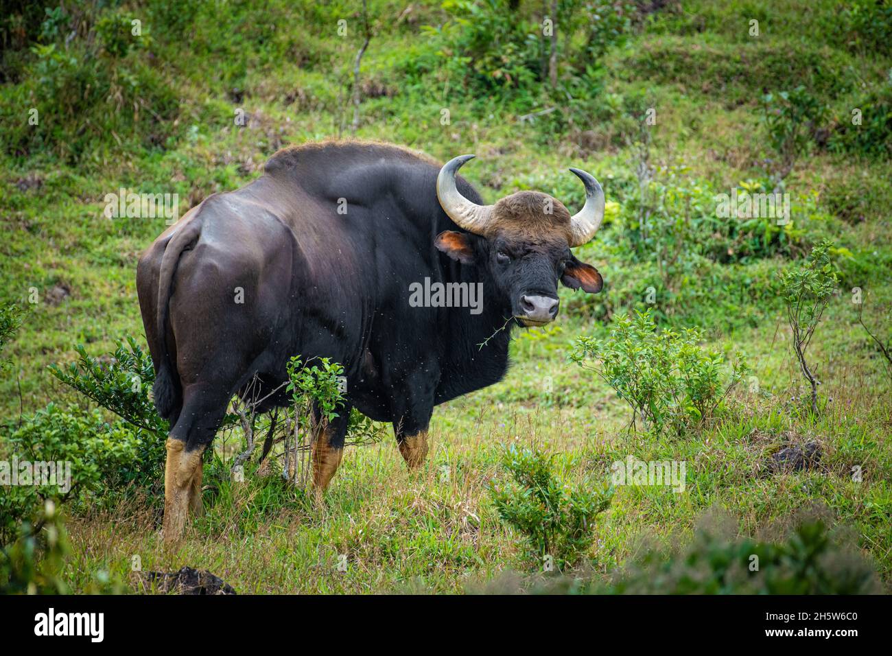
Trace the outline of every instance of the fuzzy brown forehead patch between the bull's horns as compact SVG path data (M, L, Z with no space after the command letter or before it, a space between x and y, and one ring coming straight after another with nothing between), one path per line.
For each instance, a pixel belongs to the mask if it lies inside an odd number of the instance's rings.
M568 240L570 212L564 203L539 191L518 191L492 208L494 232L537 243Z

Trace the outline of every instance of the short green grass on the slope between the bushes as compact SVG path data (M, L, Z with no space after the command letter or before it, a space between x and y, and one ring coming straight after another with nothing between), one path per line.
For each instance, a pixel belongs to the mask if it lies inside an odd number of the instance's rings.
M150 105L161 103L167 112L157 125L145 112L134 118L128 107L115 104L81 107L78 116L56 116L47 105L42 120L59 125L27 141L28 148L0 154L0 288L4 298L28 310L4 352L14 369L0 378L0 424L14 425L20 404L29 413L49 402L75 400L46 370L52 362L72 359L73 345L99 354L120 336L142 336L136 259L165 226L162 219L104 218L105 194L120 187L177 192L183 213L205 195L256 178L278 147L336 136L342 112L349 125L352 108L343 107L343 85L359 37L337 37L335 29L336 17L354 10L346 3L264 4L278 26L274 35L251 20L250 3L235 3L219 22L210 10L198 12L187 37L153 30L158 19L148 14L151 46L131 51L117 65L153 80L156 86L143 93ZM805 84L845 117L863 92L888 86L892 68L888 54L852 46L830 29L834 3L684 3L681 10L655 13L624 46L611 49L603 62L597 113L588 123L556 129L549 120L518 120L552 102L545 93L459 102L444 92L442 71L421 77L405 72L414 60L431 56L420 25L444 20L438 4L415 3L414 14L399 22L402 4L370 4L376 33L362 78L380 95L363 101L356 136L408 145L442 161L475 152L479 159L462 172L489 202L519 188L538 188L576 206L582 189L566 168L582 166L602 180L608 200L629 212L630 188L637 181L635 148L627 140L637 128L633 109L640 102L657 108L651 162L681 163L690 179L727 191L764 175L764 160L771 156L760 121L765 89ZM125 3L118 11L137 10ZM757 39L747 37L750 17L760 21ZM17 65L13 81L0 86L4 120L25 115L29 98L39 92L28 74L33 56L23 55ZM233 100L234 89L244 95L240 102ZM171 93L176 107L166 100ZM244 129L233 125L237 107L252 116ZM443 107L450 109L450 125L440 123ZM115 112L118 120L103 118ZM60 141L91 120L94 129L84 133L89 138ZM116 128L123 131L112 136ZM147 140L153 130L159 139ZM15 135L20 132L17 127ZM75 145L81 152L72 150ZM865 317L888 332L888 165L816 149L787 180L794 197L810 199L802 201L802 211L817 217L805 221L805 241L830 233L854 253L852 262L844 262L841 294L810 351L826 404L818 419L790 401L805 392L805 381L770 287L789 257L716 265L713 278L694 283L696 308L657 307L670 320L698 323L712 345L745 350L763 390L751 394L741 388L714 425L673 439L630 434L624 402L568 360L577 336L604 334L607 327L593 319L601 316L601 299L563 290L558 322L517 335L514 366L503 382L434 411L433 448L421 472L405 469L389 433L379 444L348 449L321 507L275 479L239 486L211 468L205 515L177 550L161 546L157 504L137 498L68 517L73 552L64 574L75 590L86 589L100 569L128 580L138 555L143 569L210 569L240 593L462 592L508 569L529 570L520 536L500 525L486 494L487 481L499 475L500 446L517 443L558 453L569 482L607 477L610 463L627 454L687 462L684 494L661 487L617 490L588 553L604 580L634 559L645 541L668 545L690 539L698 518L711 508L728 511L741 534L754 535L817 503L839 526L851 527L888 589L892 389L848 293L861 286ZM648 263L626 259L617 246L619 229L603 228L580 249L582 259L605 278L605 295L612 286L625 290L610 297L615 311L643 305L643 282L651 271ZM46 293L55 286L70 293L61 303L48 303ZM32 287L39 303L28 303ZM821 444L819 469L764 472L771 453L809 440ZM862 482L852 480L853 466L862 467ZM346 572L337 569L340 554L348 556Z

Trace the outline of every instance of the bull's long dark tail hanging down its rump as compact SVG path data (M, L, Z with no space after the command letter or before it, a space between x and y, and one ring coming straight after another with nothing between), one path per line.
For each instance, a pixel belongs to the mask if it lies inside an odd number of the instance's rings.
M168 419L171 428L179 414L182 404L182 388L179 384L177 365L170 356L167 345L167 321L170 294L173 289L173 277L177 272L179 257L188 248L192 247L201 235L201 221L193 219L170 237L164 254L161 256L161 271L158 276L158 303L155 305L157 314L156 335L160 345L161 357L158 361L158 370L155 372L155 384L152 388L155 399L155 408L158 414Z

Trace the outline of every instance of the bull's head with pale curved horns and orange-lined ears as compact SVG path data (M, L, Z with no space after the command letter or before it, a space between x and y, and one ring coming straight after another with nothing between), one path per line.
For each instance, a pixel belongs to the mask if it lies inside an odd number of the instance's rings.
M455 175L474 155L450 160L437 177L443 211L464 232L446 230L436 246L454 260L488 267L500 295L524 326L543 326L558 316L558 280L597 294L603 280L570 249L588 242L604 219L604 192L584 170L570 169L585 185L585 205L570 215L547 194L520 191L494 205L478 205L458 193Z

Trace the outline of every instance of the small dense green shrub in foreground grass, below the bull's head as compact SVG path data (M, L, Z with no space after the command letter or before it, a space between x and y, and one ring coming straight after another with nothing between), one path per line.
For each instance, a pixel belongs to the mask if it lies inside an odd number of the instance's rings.
M540 561L553 559L558 569L579 560L591 544L597 516L610 505L612 491L583 481L568 489L555 476L552 457L509 447L501 465L510 479L490 483L499 518L522 533Z

